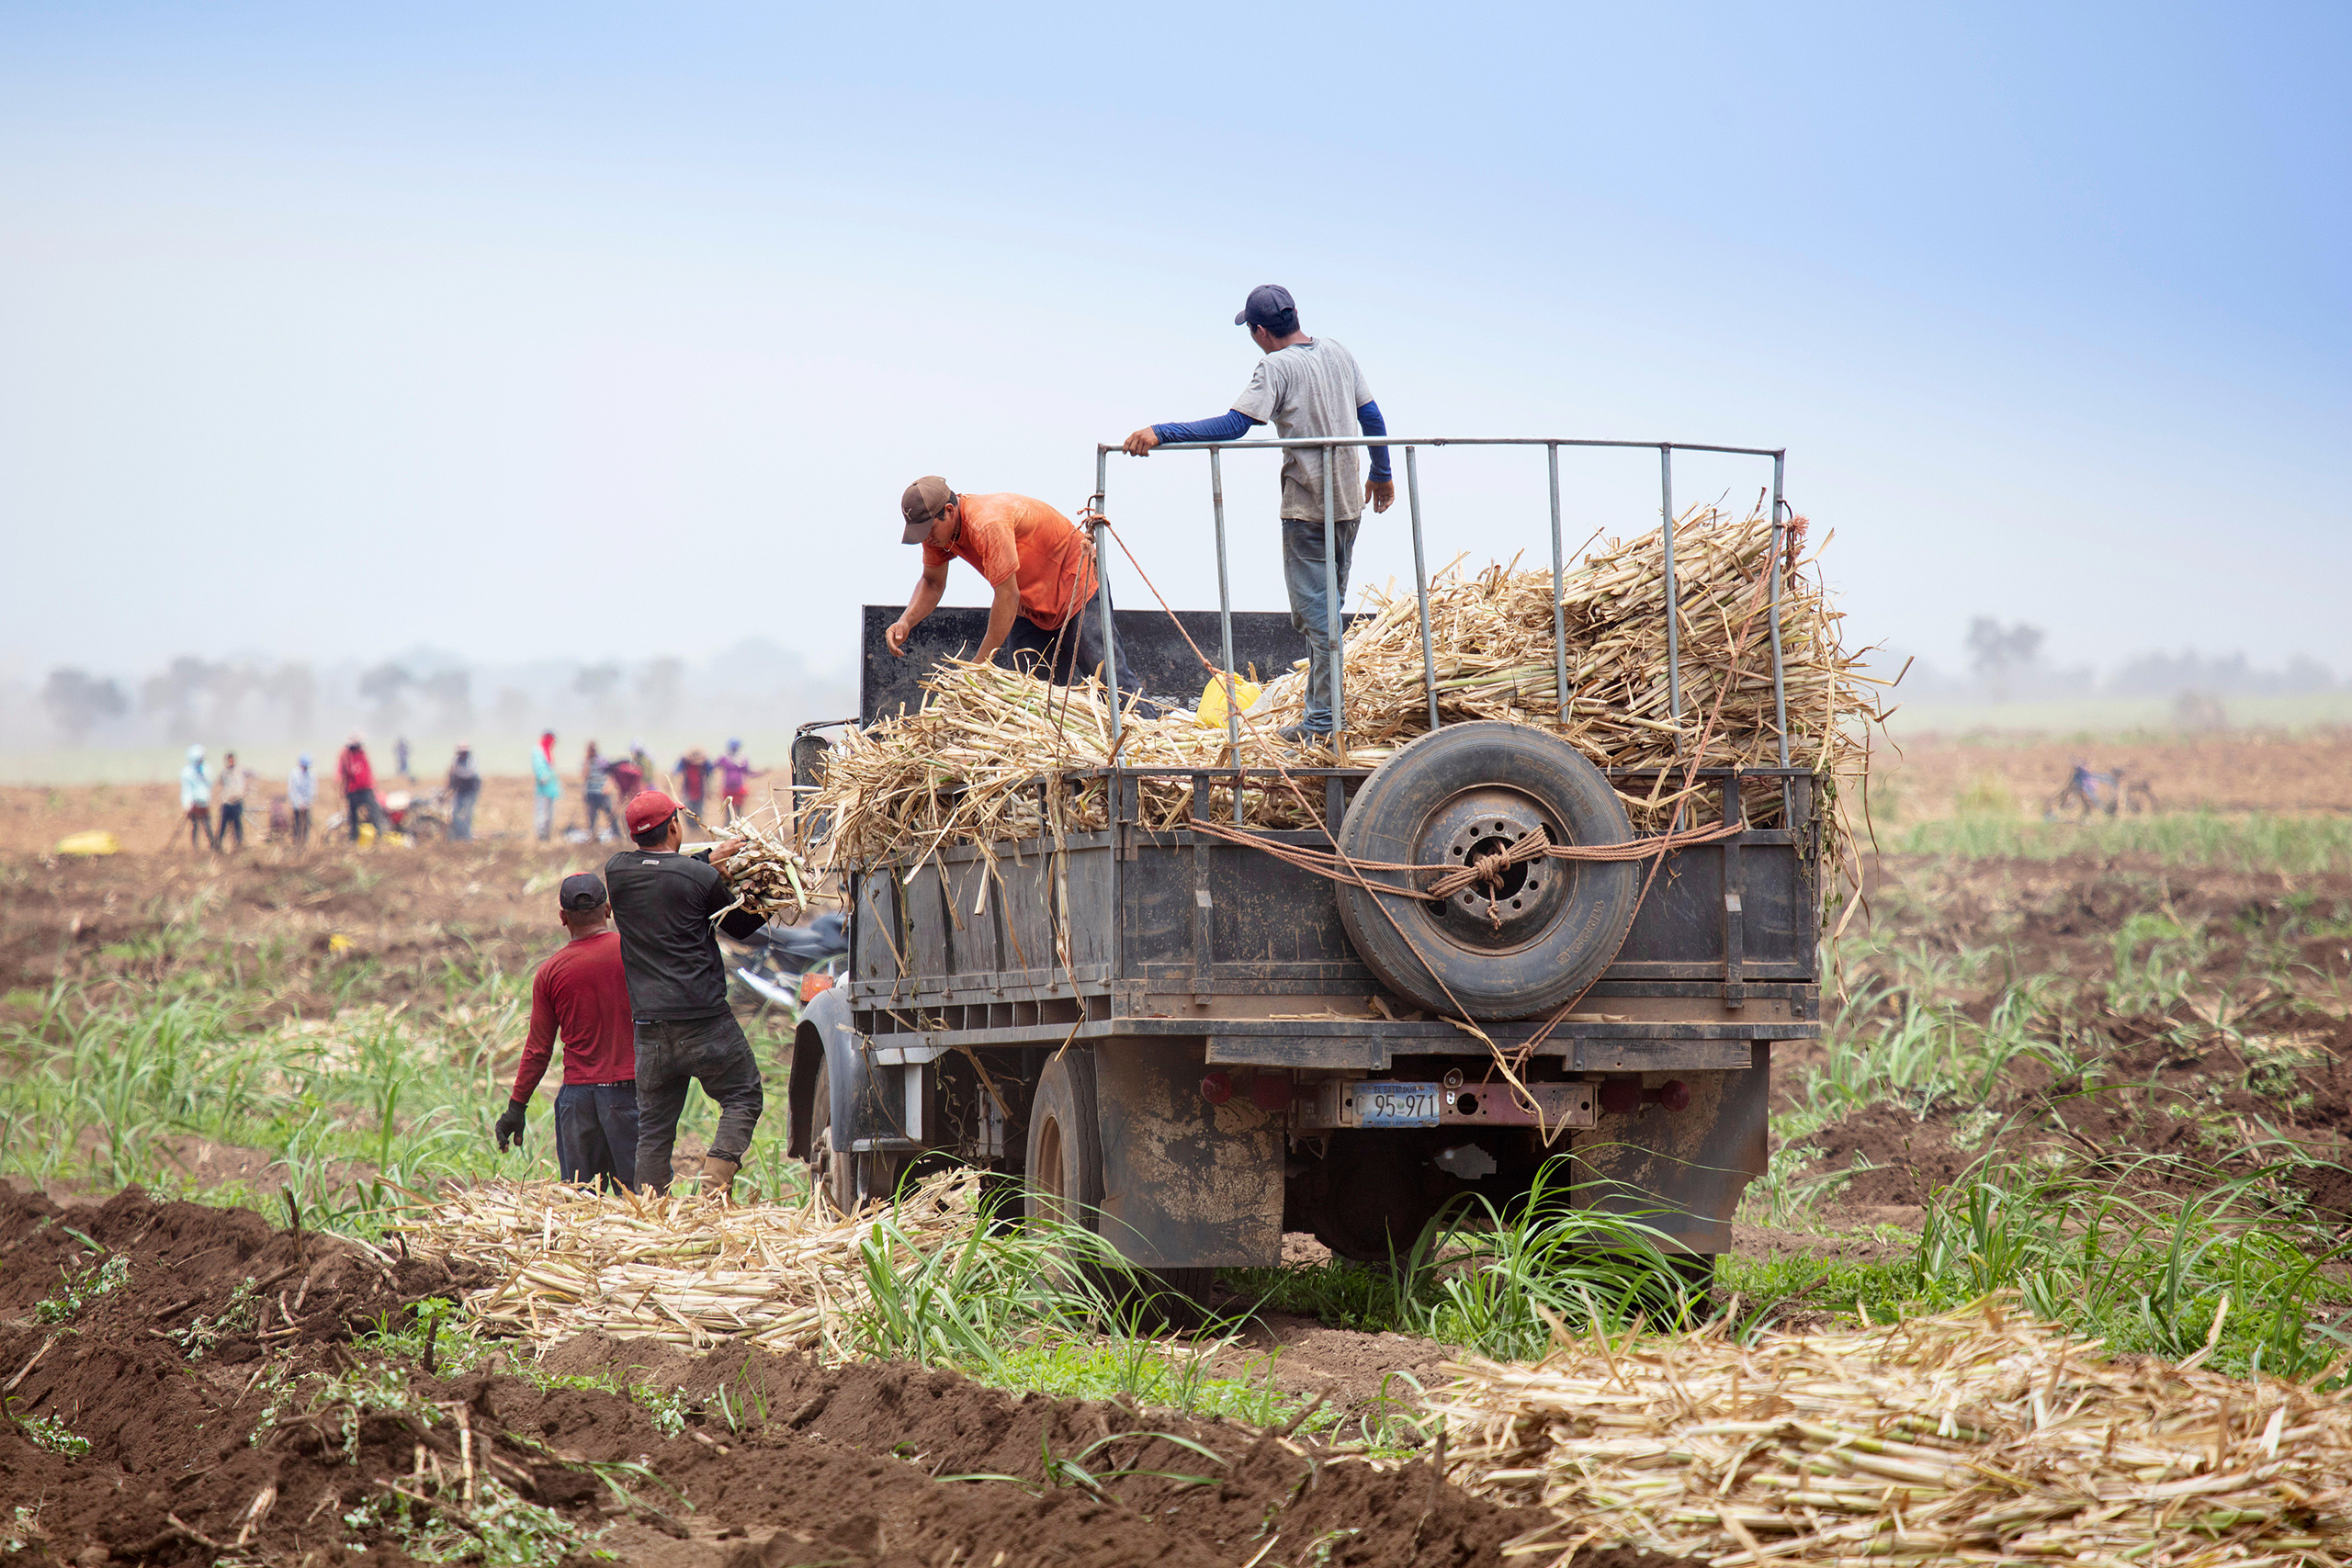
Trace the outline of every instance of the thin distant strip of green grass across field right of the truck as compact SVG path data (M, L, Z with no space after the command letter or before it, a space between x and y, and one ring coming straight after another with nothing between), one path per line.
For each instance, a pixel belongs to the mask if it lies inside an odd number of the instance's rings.
M2025 816L1971 813L1877 830L1889 853L1959 860L2058 860L2065 856L2150 856L2166 865L2213 865L2244 872L2312 875L2352 865L2352 816L2161 816L2042 823Z

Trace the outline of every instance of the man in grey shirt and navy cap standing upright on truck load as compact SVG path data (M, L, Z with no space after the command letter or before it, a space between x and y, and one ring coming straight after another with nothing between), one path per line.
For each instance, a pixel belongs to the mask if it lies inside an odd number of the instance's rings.
M1310 440L1317 435L1388 435L1381 404L1371 400L1371 386L1357 369L1355 355L1334 339L1310 339L1298 329L1298 306L1282 284L1261 284L1249 292L1235 327L1249 327L1251 341L1265 357L1249 376L1249 386L1232 400L1232 407L1216 418L1188 425L1143 425L1127 437L1127 451L1150 456L1162 442L1237 442L1251 425L1272 421L1282 440ZM1364 503L1385 512L1397 501L1397 487L1388 477L1388 447L1371 449L1371 480L1357 491L1357 449L1341 447L1331 473L1331 548L1336 559L1338 599L1329 599L1324 581L1324 454L1315 449L1287 449L1282 454L1282 581L1291 592L1291 625L1308 639L1308 703L1305 717L1282 731L1284 741L1329 741L1336 717L1331 712L1331 614L1345 609L1348 567L1355 559L1355 529L1364 517Z

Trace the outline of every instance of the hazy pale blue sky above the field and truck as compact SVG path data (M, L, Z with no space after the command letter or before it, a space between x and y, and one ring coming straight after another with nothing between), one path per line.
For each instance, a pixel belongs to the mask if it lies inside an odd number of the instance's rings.
M1075 508L1272 280L1399 433L1785 444L1856 642L2352 670L2347 66L2293 5L7 5L0 663L842 663L910 477ZM1541 458L1423 487L1541 550ZM1656 522L1651 456L1566 489ZM1214 604L1197 458L1110 510Z

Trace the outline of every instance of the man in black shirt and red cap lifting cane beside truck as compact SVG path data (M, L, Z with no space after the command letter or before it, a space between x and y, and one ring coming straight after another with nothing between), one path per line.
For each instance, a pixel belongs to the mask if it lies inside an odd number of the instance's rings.
M628 802L628 837L637 849L604 863L604 886L621 929L621 964L637 1023L637 1180L654 1192L670 1190L677 1112L687 1107L687 1088L701 1084L720 1107L720 1126L703 1157L703 1192L727 1199L764 1103L760 1063L727 1009L727 961L710 929L710 917L734 903L720 865L743 842L677 853L684 825L677 802L661 790ZM746 938L762 919L734 910L717 924L727 936Z

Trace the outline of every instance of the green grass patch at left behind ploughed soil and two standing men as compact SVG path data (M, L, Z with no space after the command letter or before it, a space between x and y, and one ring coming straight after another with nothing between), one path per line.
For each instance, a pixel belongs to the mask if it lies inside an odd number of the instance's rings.
M0 1025L0 1171L42 1185L249 1204L273 1218L379 1239L435 1180L555 1175L555 1081L532 1100L520 1152L489 1124L529 1023L529 976L480 952L407 969L327 959L285 943L205 938L202 910L174 910L101 954L103 969L19 994ZM287 1018L287 994L325 992L327 1020ZM381 997L405 1001L386 1006ZM753 1046L774 1065L762 1025ZM781 1084L771 1103L781 1103ZM696 1091L680 1119L708 1140L717 1107ZM252 1150L263 1180L198 1180L195 1140ZM743 1171L760 1199L795 1199L802 1168L783 1138Z

